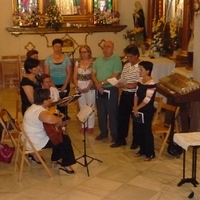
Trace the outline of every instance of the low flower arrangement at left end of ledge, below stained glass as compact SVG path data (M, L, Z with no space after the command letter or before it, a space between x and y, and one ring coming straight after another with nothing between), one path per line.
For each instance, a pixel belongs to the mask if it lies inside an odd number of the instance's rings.
M38 26L40 16L36 10L16 10L13 13L13 24L15 26Z

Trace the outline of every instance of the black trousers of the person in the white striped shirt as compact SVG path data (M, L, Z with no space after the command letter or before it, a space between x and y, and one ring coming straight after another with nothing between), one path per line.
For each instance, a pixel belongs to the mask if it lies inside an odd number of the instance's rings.
M130 117L133 110L133 98L135 92L122 91L118 106L118 139L117 142L124 142L128 136ZM131 120L133 123L133 120ZM133 130L132 130L133 133ZM134 136L134 134L133 134ZM136 139L135 139L136 140ZM138 142L136 142L138 144Z

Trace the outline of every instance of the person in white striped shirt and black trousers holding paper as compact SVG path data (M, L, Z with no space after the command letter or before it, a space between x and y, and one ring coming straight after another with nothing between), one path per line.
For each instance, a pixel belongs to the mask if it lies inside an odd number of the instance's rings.
M128 136L129 121L132 115L133 98L136 91L137 82L140 77L138 63L140 62L138 47L131 44L124 49L128 62L124 65L121 79L115 87L122 88L122 93L118 106L118 137L117 141L110 147L115 148L126 145ZM138 137L133 133L131 149L138 147Z

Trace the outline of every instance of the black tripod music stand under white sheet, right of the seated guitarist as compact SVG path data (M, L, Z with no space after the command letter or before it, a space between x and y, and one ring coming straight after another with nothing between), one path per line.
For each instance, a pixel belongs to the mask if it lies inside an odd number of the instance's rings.
M94 112L94 111L92 111L92 113L93 113L93 112ZM97 159L97 158L88 156L88 155L87 155L87 152L86 152L86 130L85 130L85 123L87 122L89 116L90 116L92 113L88 114L88 115L85 117L84 120L80 120L80 118L78 117L79 120L82 122L83 128L84 128L84 131L83 131L83 136L84 136L84 137L83 137L84 153L83 153L82 156L80 156L80 157L78 157L78 158L76 159L76 162L77 162L78 164L82 165L83 167L87 167L87 174L88 174L88 176L90 176L88 165L89 165L93 160L96 160L96 161L101 162L101 163L103 162L103 161L101 161L101 160L99 160L99 159ZM78 116L78 115L77 115L77 116ZM81 163L81 162L78 161L78 160L81 159L81 158L84 159L84 163ZM87 158L90 158L91 160L88 162L88 161L87 161Z

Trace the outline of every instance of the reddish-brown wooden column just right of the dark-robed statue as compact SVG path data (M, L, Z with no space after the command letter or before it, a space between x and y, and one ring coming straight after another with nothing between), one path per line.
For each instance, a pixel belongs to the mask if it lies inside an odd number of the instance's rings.
M147 9L147 28L146 28L146 34L147 39L146 41L148 43L151 43L152 38L152 21L155 17L155 9L156 9L156 2L155 0L148 0L148 9Z

